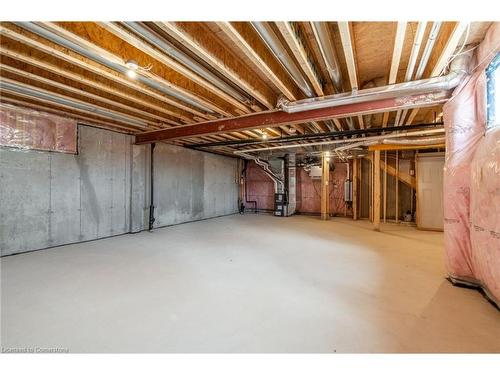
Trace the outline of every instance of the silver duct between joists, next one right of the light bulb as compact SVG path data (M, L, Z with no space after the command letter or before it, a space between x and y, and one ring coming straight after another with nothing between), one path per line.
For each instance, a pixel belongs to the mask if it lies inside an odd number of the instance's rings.
M242 103L249 103L250 100L235 90L233 87L228 85L226 82L221 80L217 75L213 74L210 70L206 69L201 64L194 61L191 57L186 55L184 52L179 51L173 44L167 40L161 38L156 33L148 30L139 22L124 22L124 24L132 31L140 35L144 40L148 41L153 46L160 49L166 55L177 60L181 64L185 65L193 72L198 74L200 77L205 78L208 82L212 83L217 88L221 89L225 93L231 95Z

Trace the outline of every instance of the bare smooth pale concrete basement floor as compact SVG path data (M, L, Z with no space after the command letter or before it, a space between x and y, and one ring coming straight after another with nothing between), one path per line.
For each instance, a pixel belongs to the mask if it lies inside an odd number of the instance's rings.
M441 233L234 215L1 259L4 348L500 352Z

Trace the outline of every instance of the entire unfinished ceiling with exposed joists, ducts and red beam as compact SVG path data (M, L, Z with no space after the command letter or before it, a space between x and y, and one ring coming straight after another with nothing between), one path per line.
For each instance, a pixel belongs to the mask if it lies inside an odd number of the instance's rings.
M2 22L0 98L84 115L93 126L135 134L138 144L229 155L249 147L313 152L319 143L344 147L343 138L384 134L403 134L393 144L404 145L405 132L440 126L442 104L468 74L471 55L462 51L488 27Z

